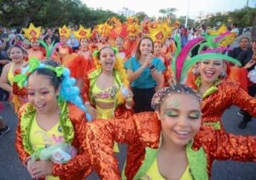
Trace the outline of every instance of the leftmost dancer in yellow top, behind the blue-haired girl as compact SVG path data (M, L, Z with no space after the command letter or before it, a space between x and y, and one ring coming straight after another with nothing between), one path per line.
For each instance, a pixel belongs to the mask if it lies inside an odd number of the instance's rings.
M11 93L10 102L17 113L22 104L27 102L26 89L20 89L14 83L14 76L21 69L25 62L26 51L18 45L11 46L8 50L11 63L3 67L0 78L0 87Z

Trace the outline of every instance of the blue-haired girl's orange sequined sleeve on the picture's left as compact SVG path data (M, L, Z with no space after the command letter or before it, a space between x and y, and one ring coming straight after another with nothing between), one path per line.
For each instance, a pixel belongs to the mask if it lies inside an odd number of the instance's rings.
M18 155L20 157L20 160L22 164L26 163L26 159L30 156L25 149L23 148L22 138L21 138L21 132L20 132L20 117L25 109L20 109L18 113L18 127L16 129L16 142L15 142L15 148L18 152Z

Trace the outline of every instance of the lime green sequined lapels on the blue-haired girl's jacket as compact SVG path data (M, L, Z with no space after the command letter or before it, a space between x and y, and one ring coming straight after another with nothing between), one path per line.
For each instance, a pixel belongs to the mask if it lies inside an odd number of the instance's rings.
M32 126L32 120L36 115L36 109L32 106L32 104L26 104L24 107L25 110L22 112L20 117L20 132L22 144L25 151L32 155L34 153L32 149L32 145L29 142L29 133ZM72 143L74 137L73 124L69 119L68 115L68 106L66 101L59 102L60 108L60 123L61 123L61 131L64 134L64 138L66 143Z

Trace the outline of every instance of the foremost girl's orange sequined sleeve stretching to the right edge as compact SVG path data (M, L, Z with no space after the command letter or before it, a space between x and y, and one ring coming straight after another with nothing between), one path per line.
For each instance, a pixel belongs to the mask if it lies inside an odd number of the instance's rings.
M206 127L201 128L194 142L195 149L201 146L205 149L209 176L213 160L256 161L255 136L234 136L229 133L218 133Z

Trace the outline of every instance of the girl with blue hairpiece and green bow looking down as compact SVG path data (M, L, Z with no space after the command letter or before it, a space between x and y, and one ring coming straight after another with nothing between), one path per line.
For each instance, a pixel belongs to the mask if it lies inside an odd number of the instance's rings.
M54 61L40 64L38 59L29 59L29 66L15 76L20 87L27 82L29 99L18 114L15 146L33 179L84 179L91 171L90 161L84 155L86 148L82 148L86 122L84 106L79 89L73 87L68 77L69 70L55 65ZM40 153L58 143L72 144L77 155L64 164L56 163L52 156L42 160Z

